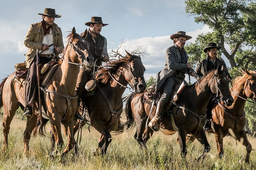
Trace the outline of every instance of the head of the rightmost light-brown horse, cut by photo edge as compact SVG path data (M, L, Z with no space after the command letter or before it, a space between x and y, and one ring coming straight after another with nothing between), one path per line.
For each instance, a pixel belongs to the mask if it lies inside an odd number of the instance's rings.
M256 72L248 72L246 69L245 71L248 78L246 79L244 93L247 97L256 101Z

